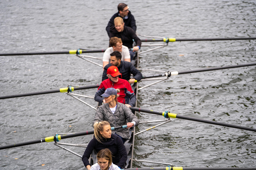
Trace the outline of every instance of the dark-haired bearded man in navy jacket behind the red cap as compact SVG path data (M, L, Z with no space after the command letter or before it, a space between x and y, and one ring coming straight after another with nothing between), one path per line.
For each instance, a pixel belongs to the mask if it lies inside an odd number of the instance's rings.
M107 70L110 66L116 66L119 72L122 74L124 80L129 81L129 83L134 83L135 80L140 81L142 79L142 74L136 69L130 62L122 61L121 53L114 51L110 54L110 63L104 67L102 74L102 81L108 79ZM130 75L133 74L133 78L130 79Z

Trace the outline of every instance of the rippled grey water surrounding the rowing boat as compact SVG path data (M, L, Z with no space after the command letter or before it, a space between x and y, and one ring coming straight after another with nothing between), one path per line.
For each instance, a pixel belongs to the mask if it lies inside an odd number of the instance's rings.
M169 38L256 37L254 1L129 1L137 33ZM105 49L115 1L0 2L0 52ZM159 43L158 43L159 44ZM148 47L141 49L147 50ZM188 41L140 55L140 68L185 71L255 62L255 40ZM103 54L91 54L101 57ZM0 57L0 96L101 81L101 68L75 55ZM95 61L101 64L100 61ZM155 72L142 71L142 74ZM256 128L255 66L182 74L139 91L139 107ZM151 83L142 81L140 87ZM77 91L94 95L95 89ZM83 99L96 106L92 99ZM66 94L0 100L0 146L92 129L94 110ZM162 116L138 114L141 121ZM155 124L141 124L137 131ZM65 139L87 143L91 136ZM134 158L183 167L255 167L255 132L174 119L141 133ZM84 149L68 147L82 155ZM18 159L17 159L18 158ZM44 166L42 166L44 164ZM164 166L134 163L134 167ZM0 169L85 169L50 143L0 151Z

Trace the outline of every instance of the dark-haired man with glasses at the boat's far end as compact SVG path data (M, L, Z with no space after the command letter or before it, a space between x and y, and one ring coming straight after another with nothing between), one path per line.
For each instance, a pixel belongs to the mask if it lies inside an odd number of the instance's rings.
M118 6L117 6L117 10L118 12L115 13L109 20L108 22L108 25L106 27L106 31L108 33L108 37L110 35L110 28L111 27L114 27L114 19L117 17L117 16L120 16L123 18L124 20L124 23L127 27L131 27L134 32L136 32L136 29L137 29L137 26L136 26L136 23L135 23L135 19L134 19L134 16L131 14L131 11L129 11L129 6L125 3L119 3Z

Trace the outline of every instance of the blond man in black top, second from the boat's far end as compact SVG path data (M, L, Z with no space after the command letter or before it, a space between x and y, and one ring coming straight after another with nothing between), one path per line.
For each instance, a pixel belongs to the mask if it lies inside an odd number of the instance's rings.
M131 61L132 58L141 47L141 40L137 37L135 31L131 27L126 27L124 25L124 20L121 17L116 17L114 20L115 27L110 29L110 38L111 37L118 37L121 38L123 41L123 45L132 48L130 50ZM133 47L133 43L136 43L136 46Z

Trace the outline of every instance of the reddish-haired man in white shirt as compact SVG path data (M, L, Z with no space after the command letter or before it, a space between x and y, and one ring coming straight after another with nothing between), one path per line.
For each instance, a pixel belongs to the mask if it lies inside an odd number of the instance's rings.
M126 46L123 46L121 38L111 37L109 44L111 47L107 48L103 54L103 69L109 63L110 54L114 51L118 51L122 54L122 61L131 62L129 49Z

